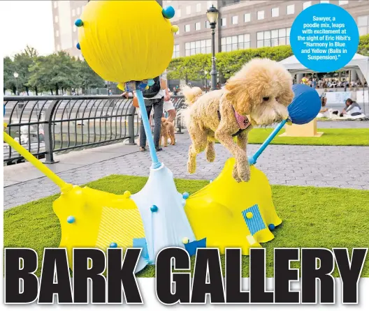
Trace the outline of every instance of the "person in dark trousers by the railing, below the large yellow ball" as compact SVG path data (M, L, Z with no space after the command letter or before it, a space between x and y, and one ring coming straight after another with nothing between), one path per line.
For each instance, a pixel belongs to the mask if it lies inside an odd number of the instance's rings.
M154 146L156 151L161 151L159 146L161 132L161 116L163 115L164 98L170 99L166 86L166 72L154 78L154 84L143 91L147 116L150 117L152 109L154 109ZM143 127L143 121L140 122L140 151L146 150L146 133Z

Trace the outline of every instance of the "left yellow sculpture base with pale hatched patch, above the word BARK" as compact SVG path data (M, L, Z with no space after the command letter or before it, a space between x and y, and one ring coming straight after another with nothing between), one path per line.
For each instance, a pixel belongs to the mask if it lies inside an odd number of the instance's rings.
M73 248L100 248L110 243L131 248L133 238L145 238L140 211L129 194L114 195L88 187L74 186L53 203L60 221L60 248L66 248L72 268ZM74 222L68 223L73 216Z

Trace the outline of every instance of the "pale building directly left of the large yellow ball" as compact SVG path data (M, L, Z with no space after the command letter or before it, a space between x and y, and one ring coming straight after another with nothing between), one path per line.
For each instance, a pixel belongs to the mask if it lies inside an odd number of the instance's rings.
M82 57L80 50L76 47L78 31L74 22L80 17L87 2L87 0L52 0L55 52L66 51L71 56Z

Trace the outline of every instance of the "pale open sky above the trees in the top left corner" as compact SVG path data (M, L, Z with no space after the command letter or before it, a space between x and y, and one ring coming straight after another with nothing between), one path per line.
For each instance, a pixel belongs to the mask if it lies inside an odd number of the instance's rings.
M22 52L26 45L34 47L40 55L54 52L50 0L0 1L0 14L2 56Z

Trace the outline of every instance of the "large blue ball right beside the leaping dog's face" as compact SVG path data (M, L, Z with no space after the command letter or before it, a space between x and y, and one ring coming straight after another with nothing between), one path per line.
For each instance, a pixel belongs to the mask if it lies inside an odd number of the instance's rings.
M319 114L321 108L318 92L305 84L294 84L292 91L294 91L295 97L288 106L292 123L309 123Z

